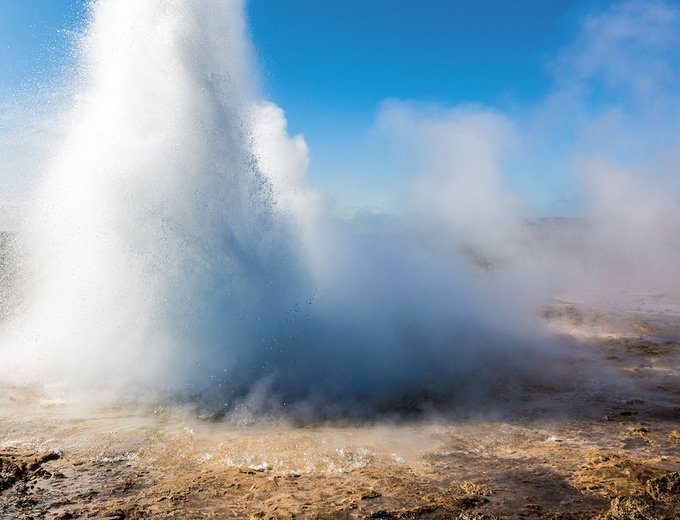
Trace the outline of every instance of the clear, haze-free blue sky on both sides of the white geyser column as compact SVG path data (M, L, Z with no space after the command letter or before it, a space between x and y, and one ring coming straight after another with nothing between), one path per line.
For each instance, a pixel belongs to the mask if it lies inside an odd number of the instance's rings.
M58 73L84 3L0 0L0 100ZM585 15L611 5L617 2L250 0L248 18L265 95L309 144L311 182L377 192L391 168L375 153L384 100L479 103L526 115L554 91L551 67Z

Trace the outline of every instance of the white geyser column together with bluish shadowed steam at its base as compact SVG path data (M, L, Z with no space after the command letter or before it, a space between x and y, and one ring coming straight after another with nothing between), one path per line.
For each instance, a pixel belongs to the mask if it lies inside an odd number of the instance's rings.
M323 217L304 141L256 95L241 2L90 10L21 233L4 378L363 413L469 399L536 354L512 273L417 223L366 236Z

